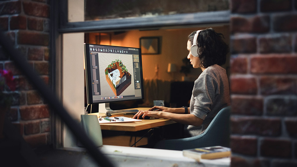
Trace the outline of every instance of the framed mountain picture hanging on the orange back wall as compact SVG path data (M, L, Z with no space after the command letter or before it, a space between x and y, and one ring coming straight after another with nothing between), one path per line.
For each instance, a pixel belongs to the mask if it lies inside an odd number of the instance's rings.
M160 53L160 37L141 37L139 45L142 54Z

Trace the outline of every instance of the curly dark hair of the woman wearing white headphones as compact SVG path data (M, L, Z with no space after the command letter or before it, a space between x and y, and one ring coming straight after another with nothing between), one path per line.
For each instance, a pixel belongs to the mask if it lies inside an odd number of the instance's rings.
M188 40L193 45L196 31L188 36ZM226 63L226 55L229 52L228 45L223 41L225 38L222 33L217 33L212 28L201 30L197 37L199 47L199 59L203 68L211 65L223 65Z

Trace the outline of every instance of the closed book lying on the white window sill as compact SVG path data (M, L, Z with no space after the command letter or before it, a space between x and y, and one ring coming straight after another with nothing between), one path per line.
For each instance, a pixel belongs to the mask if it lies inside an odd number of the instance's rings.
M185 157L200 159L217 159L222 157L229 157L231 155L231 149L222 146L201 147L195 149L183 150Z

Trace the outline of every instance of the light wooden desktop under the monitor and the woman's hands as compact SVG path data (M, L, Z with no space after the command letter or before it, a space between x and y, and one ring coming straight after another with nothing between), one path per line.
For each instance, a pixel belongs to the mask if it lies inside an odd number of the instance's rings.
M138 110L148 110L149 108L133 108ZM92 113L92 115L102 116L104 118L106 115L104 113ZM124 113L113 114L113 116L126 116L132 118L132 114L124 115ZM113 117L112 116L112 117ZM169 124L174 124L176 122L169 119L142 119L142 121L137 122L123 122L123 123L104 123L100 124L101 130L118 130L118 131L130 131L136 132L139 130L150 129L153 127L159 127Z

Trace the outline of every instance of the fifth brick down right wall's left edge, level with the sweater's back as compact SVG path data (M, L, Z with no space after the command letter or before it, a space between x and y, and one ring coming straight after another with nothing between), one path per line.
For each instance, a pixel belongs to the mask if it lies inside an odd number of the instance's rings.
M231 76L232 94L257 94L257 81L254 77Z

